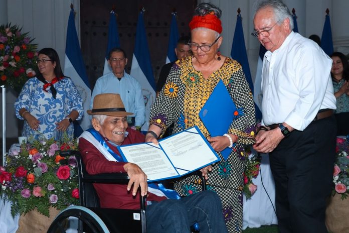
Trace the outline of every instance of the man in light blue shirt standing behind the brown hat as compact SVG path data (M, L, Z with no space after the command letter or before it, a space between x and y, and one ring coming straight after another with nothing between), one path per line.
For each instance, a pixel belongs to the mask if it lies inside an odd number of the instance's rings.
M145 103L139 82L125 72L127 64L125 51L120 48L111 49L108 64L112 72L97 79L93 88L90 106L92 108L93 99L97 94L120 94L126 111L134 112L133 115L127 118L128 125L140 130L145 122Z

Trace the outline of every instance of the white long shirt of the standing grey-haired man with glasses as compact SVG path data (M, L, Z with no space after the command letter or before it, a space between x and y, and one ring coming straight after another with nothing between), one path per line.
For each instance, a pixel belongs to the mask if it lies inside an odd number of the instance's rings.
M312 40L291 32L263 59L262 125L286 123L303 131L320 109L336 108L332 59Z

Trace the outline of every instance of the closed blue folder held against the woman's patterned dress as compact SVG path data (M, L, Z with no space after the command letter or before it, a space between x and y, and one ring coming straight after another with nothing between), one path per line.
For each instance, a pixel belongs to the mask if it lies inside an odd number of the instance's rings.
M236 110L237 107L221 79L199 112L199 117L211 137L223 136L228 133ZM227 147L221 152L225 160L231 151L232 148Z

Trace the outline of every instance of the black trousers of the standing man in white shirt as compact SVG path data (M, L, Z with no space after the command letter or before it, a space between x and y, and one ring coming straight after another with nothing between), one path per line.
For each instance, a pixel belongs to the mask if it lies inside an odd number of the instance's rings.
M333 115L293 131L269 153L281 233L327 233L326 199L331 193L336 123Z

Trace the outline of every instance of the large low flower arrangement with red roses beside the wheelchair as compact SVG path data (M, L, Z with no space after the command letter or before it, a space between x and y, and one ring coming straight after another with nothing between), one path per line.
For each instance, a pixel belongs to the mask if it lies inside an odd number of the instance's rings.
M49 207L64 209L79 203L75 156L62 157L64 150L77 150L76 140L62 143L54 139L32 141L13 150L1 167L1 193L13 202L11 214L27 213L35 208L49 216Z

